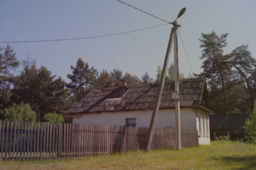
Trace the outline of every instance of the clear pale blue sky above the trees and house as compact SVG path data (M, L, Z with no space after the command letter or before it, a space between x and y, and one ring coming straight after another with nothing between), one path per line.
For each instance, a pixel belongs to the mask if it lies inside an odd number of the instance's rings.
M179 72L188 75L202 72L200 42L202 33L228 33L225 53L240 45L249 45L256 58L256 1L254 0L123 0L167 21L174 21L181 8L186 12L178 18ZM0 0L0 42L17 40L53 40L122 33L164 24L141 11L116 0ZM37 67L47 67L53 75L66 82L82 58L98 72L122 70L141 78L145 72L156 78L156 69L163 66L171 25L105 38L61 42L9 43L18 60L27 56ZM6 43L0 43L6 47ZM174 62L171 50L170 63ZM188 63L191 63L191 67ZM192 70L191 70L192 68ZM16 70L20 74L22 67Z

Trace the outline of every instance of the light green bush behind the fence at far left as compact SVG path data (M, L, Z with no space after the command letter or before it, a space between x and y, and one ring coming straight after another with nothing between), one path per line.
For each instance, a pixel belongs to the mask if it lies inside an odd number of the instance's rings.
M14 104L1 111L1 118L9 121L35 122L36 113L32 111L28 103Z

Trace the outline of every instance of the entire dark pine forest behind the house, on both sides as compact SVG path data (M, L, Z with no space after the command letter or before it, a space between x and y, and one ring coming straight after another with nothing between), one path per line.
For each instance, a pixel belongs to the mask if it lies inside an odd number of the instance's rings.
M224 54L227 36L228 33L202 33L199 40L203 72L196 77L206 77L215 113L250 113L256 99L256 60L248 45L241 45ZM22 72L15 76L18 67L22 67ZM156 81L146 72L142 79L129 73L123 74L120 69L98 72L81 58L70 69L71 73L67 75L70 81L65 82L61 77L52 75L46 67L36 67L36 62L30 57L18 61L10 45L0 47L0 118L15 120L14 111L22 112L30 108L36 121L46 121L50 113L64 115L90 89L120 86L122 79L127 80L127 85ZM161 67L156 69L156 74L161 74ZM179 74L179 77L185 78L183 74ZM188 74L186 78L192 77L192 74ZM166 80L172 79L174 63L170 64L166 75ZM70 118L65 117L65 121L70 121Z

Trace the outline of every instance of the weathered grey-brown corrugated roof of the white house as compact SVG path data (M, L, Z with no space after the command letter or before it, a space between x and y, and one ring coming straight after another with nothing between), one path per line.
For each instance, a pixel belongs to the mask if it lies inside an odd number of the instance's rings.
M206 79L181 79L179 81L181 108L206 108L210 111L210 101L206 87ZM113 91L128 89L119 98L110 98ZM80 101L71 106L67 113L100 113L114 111L136 111L154 108L159 83L136 86L119 86L107 89L92 89ZM166 81L161 98L161 108L174 108L175 101L171 98L174 92L174 81ZM118 95L117 95L118 96Z

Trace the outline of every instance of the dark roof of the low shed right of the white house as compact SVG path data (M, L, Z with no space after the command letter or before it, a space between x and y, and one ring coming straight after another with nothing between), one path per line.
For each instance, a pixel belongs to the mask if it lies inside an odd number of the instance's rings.
M228 113L210 115L210 130L234 130L235 133L244 133L245 119L248 114Z

